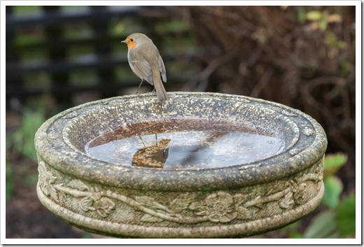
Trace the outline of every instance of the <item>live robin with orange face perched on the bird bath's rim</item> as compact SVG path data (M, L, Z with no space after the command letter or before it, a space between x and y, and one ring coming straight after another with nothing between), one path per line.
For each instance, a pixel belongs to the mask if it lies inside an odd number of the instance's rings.
M146 80L154 85L160 101L167 100L168 95L162 83L162 80L167 82L165 64L151 38L145 34L130 34L121 43L127 43L127 60L132 71L141 78L136 93L138 93L143 81ZM162 80L160 76L162 76Z

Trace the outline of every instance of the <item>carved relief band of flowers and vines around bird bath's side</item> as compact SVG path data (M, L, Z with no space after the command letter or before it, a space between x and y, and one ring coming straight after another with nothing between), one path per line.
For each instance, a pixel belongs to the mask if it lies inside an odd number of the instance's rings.
M129 197L111 190L101 190L97 186L89 186L74 179L68 183L57 183L57 177L52 174L44 162L39 162L39 186L45 195L59 202L59 193L78 199L78 206L82 211L96 212L106 218L116 210L117 202L131 206L135 211L144 213L142 222L160 223L169 221L174 223L195 224L203 222L229 223L232 220L249 220L254 211L268 210L276 202L284 212L295 205L304 204L320 189L322 169L318 174L304 174L294 178L279 191L269 191L267 195L249 199L248 195L228 191L211 192L202 199L195 199L189 192L181 193L169 203L158 202L148 196ZM310 184L311 183L311 184Z

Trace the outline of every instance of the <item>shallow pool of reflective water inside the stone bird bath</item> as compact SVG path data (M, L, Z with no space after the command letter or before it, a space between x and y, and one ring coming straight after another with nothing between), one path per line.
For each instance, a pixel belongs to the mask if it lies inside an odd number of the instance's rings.
M262 160L283 148L283 140L248 125L179 120L116 129L89 141L85 151L122 165L206 169Z

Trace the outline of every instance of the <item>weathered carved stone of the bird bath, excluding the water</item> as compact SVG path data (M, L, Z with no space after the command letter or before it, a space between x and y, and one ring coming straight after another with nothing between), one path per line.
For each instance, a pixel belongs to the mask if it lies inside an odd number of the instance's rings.
M38 197L66 222L116 237L244 237L283 227L323 197L325 132L261 99L204 92L114 97L70 108L36 133ZM85 144L149 121L226 121L283 139L272 157L214 169L153 169L96 160Z

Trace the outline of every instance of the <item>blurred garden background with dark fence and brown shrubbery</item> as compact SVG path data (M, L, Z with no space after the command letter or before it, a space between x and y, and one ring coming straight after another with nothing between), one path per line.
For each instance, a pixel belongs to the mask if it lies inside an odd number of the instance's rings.
M355 237L354 6L6 6L6 238L103 238L38 201L34 134L66 108L135 92L120 43L135 32L160 50L167 91L275 101L325 129L323 202L253 238Z

